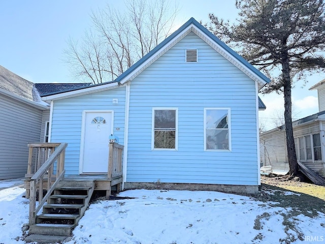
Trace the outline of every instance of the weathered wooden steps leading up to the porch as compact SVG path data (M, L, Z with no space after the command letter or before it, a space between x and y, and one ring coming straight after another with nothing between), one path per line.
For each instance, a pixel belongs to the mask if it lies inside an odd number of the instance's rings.
M36 224L29 226L29 234L70 236L88 207L94 187L94 180L60 181L42 214L36 216Z

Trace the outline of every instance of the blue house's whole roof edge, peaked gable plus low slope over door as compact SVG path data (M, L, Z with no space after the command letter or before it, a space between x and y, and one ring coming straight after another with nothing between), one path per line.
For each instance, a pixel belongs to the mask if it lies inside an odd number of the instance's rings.
M220 39L214 36L197 20L195 20L194 18L190 18L176 32L174 32L163 42L158 44L154 49L152 49L144 57L138 60L137 63L135 63L124 73L118 76L114 81L90 85L88 87L82 87L81 89L71 89L67 93L60 91L58 93L49 94L49 96L44 97L43 100L49 101L80 96L83 94L99 92L100 90L115 88L119 84L125 84L126 82L133 80L138 74L140 74L144 69L151 65L156 59L158 59L161 55L167 52L170 48L172 48L176 43L178 43L190 32L193 32L198 35L207 44L209 44L212 48L219 52L223 57L229 60L233 65L235 65L242 72L248 75L251 79L257 82L258 90L261 89L265 84L270 82L270 79L266 77L261 71L257 70L255 67L249 64L247 60L245 60L238 53L232 50L229 46L223 43ZM262 108L263 107L265 107L265 105L262 106Z

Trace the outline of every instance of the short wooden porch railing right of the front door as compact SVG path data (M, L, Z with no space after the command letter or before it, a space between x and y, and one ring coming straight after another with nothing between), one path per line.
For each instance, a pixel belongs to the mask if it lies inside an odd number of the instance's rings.
M108 160L108 178L122 176L124 146L111 142L109 144L109 160Z

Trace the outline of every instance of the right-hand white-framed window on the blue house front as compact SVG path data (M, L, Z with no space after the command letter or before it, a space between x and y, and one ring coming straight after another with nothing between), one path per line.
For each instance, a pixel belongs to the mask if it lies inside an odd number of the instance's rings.
M204 116L204 149L231 150L230 109L207 108Z

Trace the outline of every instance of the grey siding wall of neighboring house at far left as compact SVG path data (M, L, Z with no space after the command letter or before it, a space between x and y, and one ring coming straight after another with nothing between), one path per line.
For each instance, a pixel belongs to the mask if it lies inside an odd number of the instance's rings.
M0 179L24 177L28 142L39 142L42 111L0 95Z

